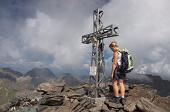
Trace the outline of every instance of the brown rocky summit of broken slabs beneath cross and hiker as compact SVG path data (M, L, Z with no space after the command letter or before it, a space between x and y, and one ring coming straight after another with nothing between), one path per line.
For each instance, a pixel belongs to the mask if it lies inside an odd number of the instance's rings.
M126 98L118 102L112 97L112 85L107 89L105 96L93 98L87 95L87 84L42 83L37 96L18 97L0 112L170 112L170 97L159 96L150 86L126 84Z

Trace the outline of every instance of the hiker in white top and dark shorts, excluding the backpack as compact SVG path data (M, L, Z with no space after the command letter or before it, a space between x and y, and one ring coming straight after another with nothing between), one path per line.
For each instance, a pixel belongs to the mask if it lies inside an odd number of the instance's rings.
M113 79L113 90L114 90L114 98L113 100L116 103L124 100L125 95L125 86L124 86L124 79L126 74L121 72L120 65L121 65L121 53L119 52L119 46L116 41L113 41L109 45L110 49L113 51L113 59L112 59L112 71L111 76ZM118 83L120 85L120 97L119 97L119 88Z

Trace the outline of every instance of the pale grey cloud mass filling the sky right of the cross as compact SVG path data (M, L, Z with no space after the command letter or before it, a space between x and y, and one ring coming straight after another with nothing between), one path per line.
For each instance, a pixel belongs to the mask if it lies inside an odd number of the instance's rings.
M168 0L112 0L103 7L106 24L120 28L115 38L135 58L135 71L170 77Z

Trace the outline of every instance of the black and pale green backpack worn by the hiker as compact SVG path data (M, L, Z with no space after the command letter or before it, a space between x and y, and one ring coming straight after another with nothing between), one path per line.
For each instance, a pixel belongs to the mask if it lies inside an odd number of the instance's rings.
M120 72L123 73L131 72L134 66L132 55L129 53L129 50L127 50L126 48L119 50L119 52L121 53L121 65L119 66Z

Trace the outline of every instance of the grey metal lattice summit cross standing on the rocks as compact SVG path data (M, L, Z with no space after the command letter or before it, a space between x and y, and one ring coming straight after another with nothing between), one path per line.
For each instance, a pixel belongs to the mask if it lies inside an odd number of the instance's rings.
M118 27L109 25L103 28L103 22L101 17L103 16L103 11L96 9L93 11L93 33L86 34L82 36L83 44L92 43L92 55L91 55L91 66L90 66L90 76L89 76L89 86L91 92L89 96L98 98L99 93L104 93L102 88L106 88L105 84L105 61L104 61L104 39L118 36ZM103 86L104 85L104 86Z

